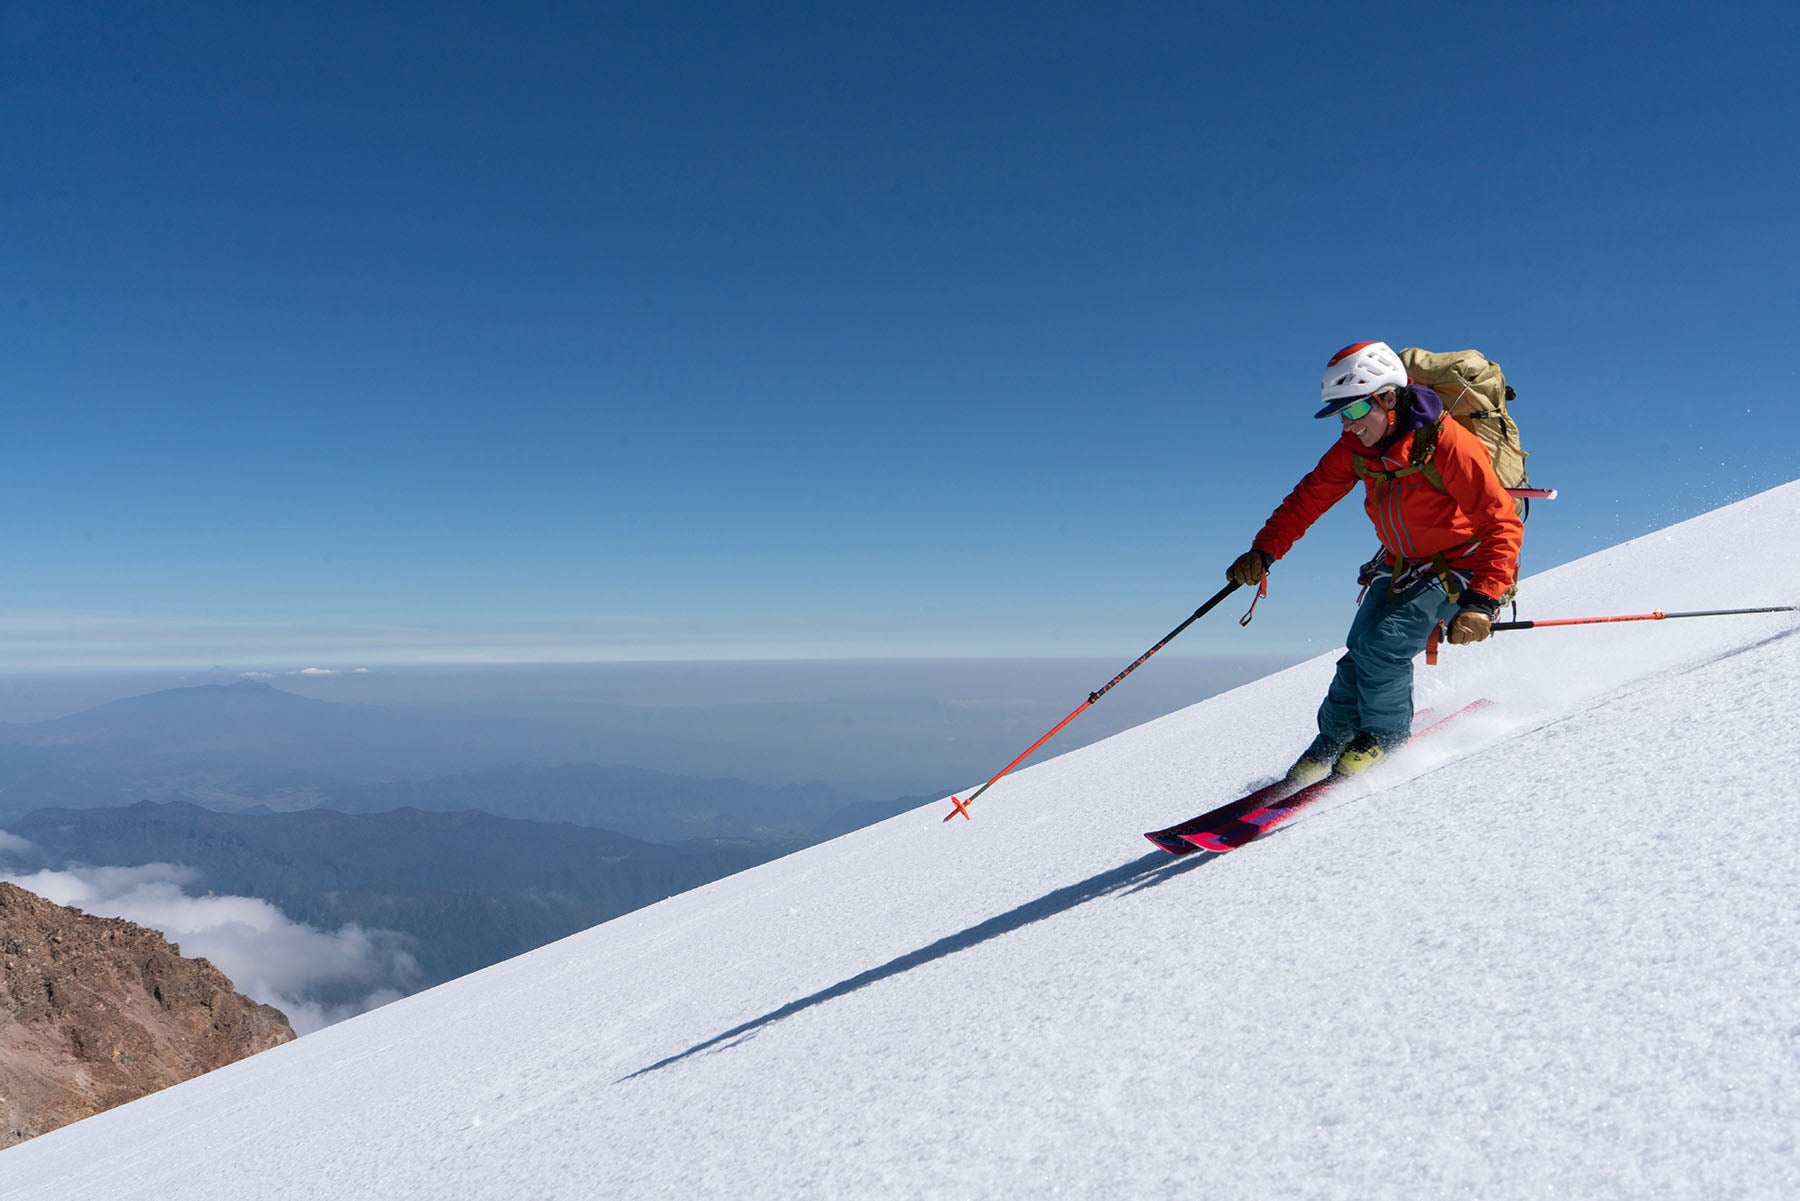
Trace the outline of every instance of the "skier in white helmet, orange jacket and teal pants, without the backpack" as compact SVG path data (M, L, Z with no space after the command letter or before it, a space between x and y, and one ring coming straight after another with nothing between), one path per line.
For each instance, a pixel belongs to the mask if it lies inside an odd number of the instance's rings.
M1357 479L1381 535L1337 673L1319 706L1319 735L1287 771L1300 787L1354 774L1406 742L1413 726L1413 657L1449 621L1449 641L1480 643L1517 580L1525 526L1474 434L1444 418L1429 387L1409 384L1386 342L1332 355L1316 418L1343 436L1274 510L1251 549L1226 571L1260 583Z

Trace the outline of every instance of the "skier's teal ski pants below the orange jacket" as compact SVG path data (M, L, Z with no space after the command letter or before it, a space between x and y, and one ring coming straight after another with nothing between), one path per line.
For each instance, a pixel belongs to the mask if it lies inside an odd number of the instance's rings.
M1413 659L1431 628L1456 616L1444 582L1427 574L1395 598L1388 576L1377 576L1345 639L1345 657L1319 706L1319 736L1337 747L1370 733L1397 747L1413 733Z

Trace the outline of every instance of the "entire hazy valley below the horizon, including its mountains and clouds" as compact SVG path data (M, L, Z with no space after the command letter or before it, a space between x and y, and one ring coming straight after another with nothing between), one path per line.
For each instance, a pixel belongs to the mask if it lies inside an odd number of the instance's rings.
M643 673L648 704L166 688L0 726L0 877L164 929L306 1032L965 787L1093 675L704 704ZM1170 672L1069 744L1183 690L1204 691Z

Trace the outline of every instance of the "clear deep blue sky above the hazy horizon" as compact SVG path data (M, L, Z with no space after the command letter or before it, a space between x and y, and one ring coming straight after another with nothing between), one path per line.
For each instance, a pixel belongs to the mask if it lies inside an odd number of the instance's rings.
M0 670L1123 664L1364 339L1507 367L1566 562L1796 474L1796 52L1791 4L11 4ZM1336 645L1372 546L1346 501L1181 650Z

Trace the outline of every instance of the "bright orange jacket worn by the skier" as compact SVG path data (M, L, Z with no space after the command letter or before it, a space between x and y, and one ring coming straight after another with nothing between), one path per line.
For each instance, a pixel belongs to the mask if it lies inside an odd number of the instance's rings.
M1417 389L1436 396L1427 389ZM1429 403L1429 402L1427 402ZM1431 405L1435 407L1435 405ZM1255 546L1271 558L1282 558L1328 508L1350 495L1357 484L1355 461L1393 472L1411 465L1417 430L1402 434L1388 447L1364 447L1345 430L1319 465L1294 484L1287 499L1269 515ZM1454 571L1471 574L1469 589L1499 600L1519 574L1519 544L1525 522L1507 495L1481 439L1454 420L1444 418L1431 465L1444 479L1444 492L1431 486L1422 472L1395 481L1370 477L1363 483L1363 508L1375 522L1375 533L1390 564L1444 555Z

